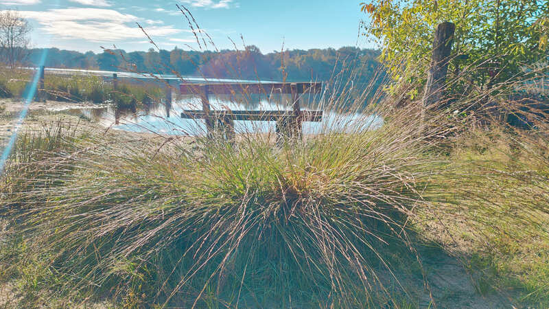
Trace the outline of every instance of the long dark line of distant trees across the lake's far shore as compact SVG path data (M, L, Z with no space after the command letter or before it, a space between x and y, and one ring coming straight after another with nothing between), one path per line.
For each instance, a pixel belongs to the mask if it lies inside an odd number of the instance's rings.
M42 53L43 49L30 49L29 65L38 65ZM262 54L253 45L242 51L194 52L176 47L172 51L149 49L148 52L106 49L100 54L51 48L48 50L45 66L288 81L327 81L347 70L347 77L353 76L356 83L370 82L379 67L378 56L379 51L375 49L357 47L294 49L269 54ZM354 72L353 75L351 71Z

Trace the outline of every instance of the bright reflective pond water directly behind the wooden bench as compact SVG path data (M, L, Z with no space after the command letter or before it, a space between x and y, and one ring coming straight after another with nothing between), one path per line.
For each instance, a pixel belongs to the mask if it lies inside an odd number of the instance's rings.
M212 110L248 110L248 111L287 111L291 110L291 95L211 95ZM322 122L304 122L303 133L317 134L329 131L350 132L371 130L382 124L381 117L349 113L342 115L326 108L324 100L318 95L305 93L301 96L302 110L323 110ZM206 132L203 119L182 119L180 114L185 109L201 110L202 102L194 95L178 95L176 102L152 102L137 106L117 108L75 109L69 113L80 115L105 127L130 132L154 132L168 135L202 135ZM235 132L274 132L274 122L235 121Z

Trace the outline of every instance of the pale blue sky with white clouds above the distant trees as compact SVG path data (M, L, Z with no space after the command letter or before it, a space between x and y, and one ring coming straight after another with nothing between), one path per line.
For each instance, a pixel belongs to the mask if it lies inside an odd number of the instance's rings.
M194 14L219 49L256 45L261 52L342 46L370 47L358 39L363 0L0 0L32 23L34 47L100 52L115 45L126 51L152 45L140 23L163 49L194 49L187 21L176 3Z

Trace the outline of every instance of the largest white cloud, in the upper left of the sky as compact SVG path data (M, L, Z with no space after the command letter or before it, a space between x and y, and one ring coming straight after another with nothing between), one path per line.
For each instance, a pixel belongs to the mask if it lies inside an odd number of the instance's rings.
M66 8L47 11L21 11L22 16L34 19L39 29L58 39L83 39L95 43L117 43L129 38L144 38L135 25L147 22L132 14L100 8ZM182 32L172 26L148 26L147 34L169 36Z

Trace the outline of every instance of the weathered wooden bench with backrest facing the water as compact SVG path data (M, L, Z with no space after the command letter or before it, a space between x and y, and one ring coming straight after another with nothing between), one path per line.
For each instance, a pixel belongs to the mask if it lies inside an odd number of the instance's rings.
M299 97L303 93L320 93L320 82L296 83L209 83L209 84L180 84L181 94L199 95L202 101L202 111L185 110L181 117L186 119L205 119L209 135L221 133L226 139L235 137L234 121L276 121L277 135L280 137L301 137L303 122L320 122L323 111L301 111ZM292 94L291 111L212 111L209 95L215 94Z

